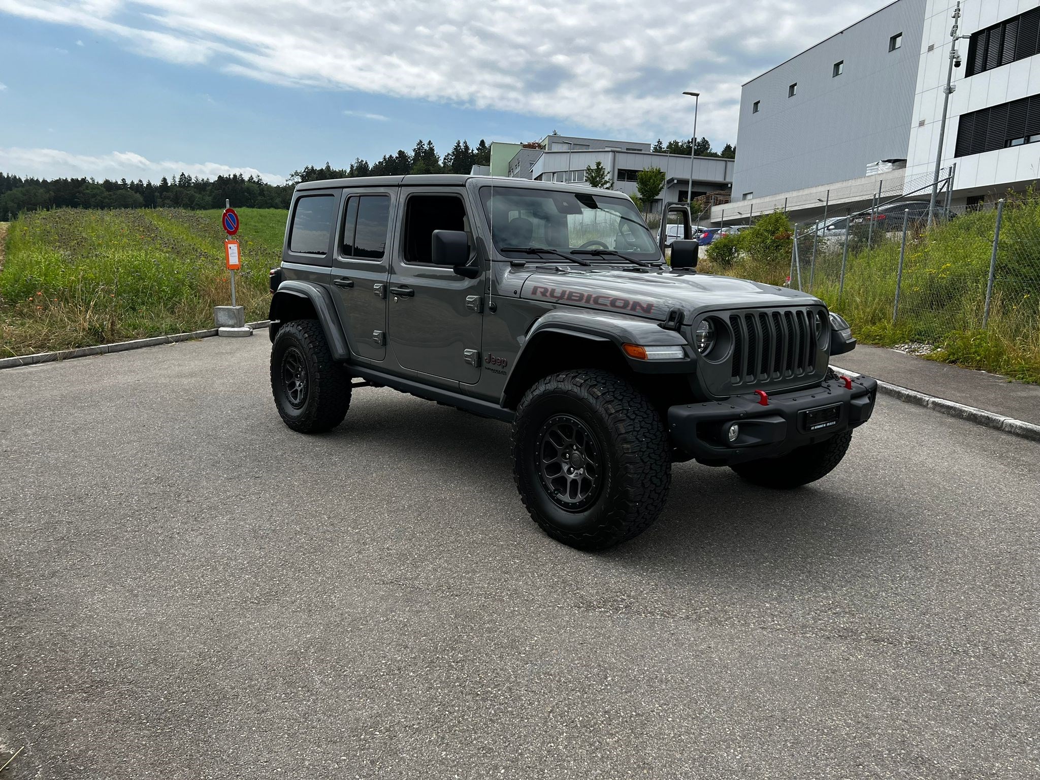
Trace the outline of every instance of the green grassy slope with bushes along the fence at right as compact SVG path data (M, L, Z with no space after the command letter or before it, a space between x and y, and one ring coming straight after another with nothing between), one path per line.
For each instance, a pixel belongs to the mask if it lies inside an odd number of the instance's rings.
M799 238L803 289L823 298L864 343L1040 382L1040 202L1010 200L1004 212L993 294L983 328L996 215L970 211L908 235L899 316L895 287L902 231L859 227L850 240L841 287L842 241ZM872 238L869 245L867 239ZM791 274L791 226L769 214L738 236L717 239L701 269L769 284L798 285ZM814 266L814 267L813 267ZM794 276L789 282L788 275ZM811 284L811 287L810 287Z

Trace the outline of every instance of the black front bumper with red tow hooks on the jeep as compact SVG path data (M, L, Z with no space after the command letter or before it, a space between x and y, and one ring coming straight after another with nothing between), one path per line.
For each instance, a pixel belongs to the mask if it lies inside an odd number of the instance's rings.
M730 466L776 458L862 425L870 419L877 396L877 381L857 376L852 389L835 379L769 395L768 406L755 393L683 404L668 410L668 432L675 448L690 458L708 466ZM739 435L730 442L732 423L739 425Z

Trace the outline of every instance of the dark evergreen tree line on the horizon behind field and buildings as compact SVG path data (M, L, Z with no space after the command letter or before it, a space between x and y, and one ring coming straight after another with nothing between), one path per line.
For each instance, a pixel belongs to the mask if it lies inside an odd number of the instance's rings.
M660 139L655 152L688 155L693 139ZM535 145L525 145L535 146ZM697 141L697 154L704 157L732 157L736 150L727 144L721 153L712 151L707 138ZM398 149L396 154L383 155L375 162L355 159L345 168L335 168L329 162L321 167L307 165L293 171L286 184L268 184L260 177L241 174L217 176L215 179L192 177L181 173L162 177L158 184L151 181L119 181L93 178L42 179L21 177L0 172L0 222L12 219L23 211L50 208L223 208L225 201L244 208L288 208L295 184L324 179L347 179L360 176L406 176L410 174L468 174L473 165L491 164L491 147L483 138L476 146L457 140L443 156L432 140L418 140L411 152ZM602 186L602 184L600 184ZM608 185L613 186L613 184Z

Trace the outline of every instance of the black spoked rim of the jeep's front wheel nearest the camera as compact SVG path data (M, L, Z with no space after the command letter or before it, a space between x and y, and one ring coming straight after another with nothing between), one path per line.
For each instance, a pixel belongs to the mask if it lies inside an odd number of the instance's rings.
M581 512L599 495L603 456L589 426L569 414L553 415L538 432L536 466L546 494L561 509Z

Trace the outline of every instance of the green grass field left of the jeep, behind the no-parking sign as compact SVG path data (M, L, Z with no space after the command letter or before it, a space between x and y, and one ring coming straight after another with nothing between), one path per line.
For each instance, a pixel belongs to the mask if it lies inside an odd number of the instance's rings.
M231 303L219 211L59 209L10 223L0 357L213 327ZM286 212L239 209L237 303L265 319Z

